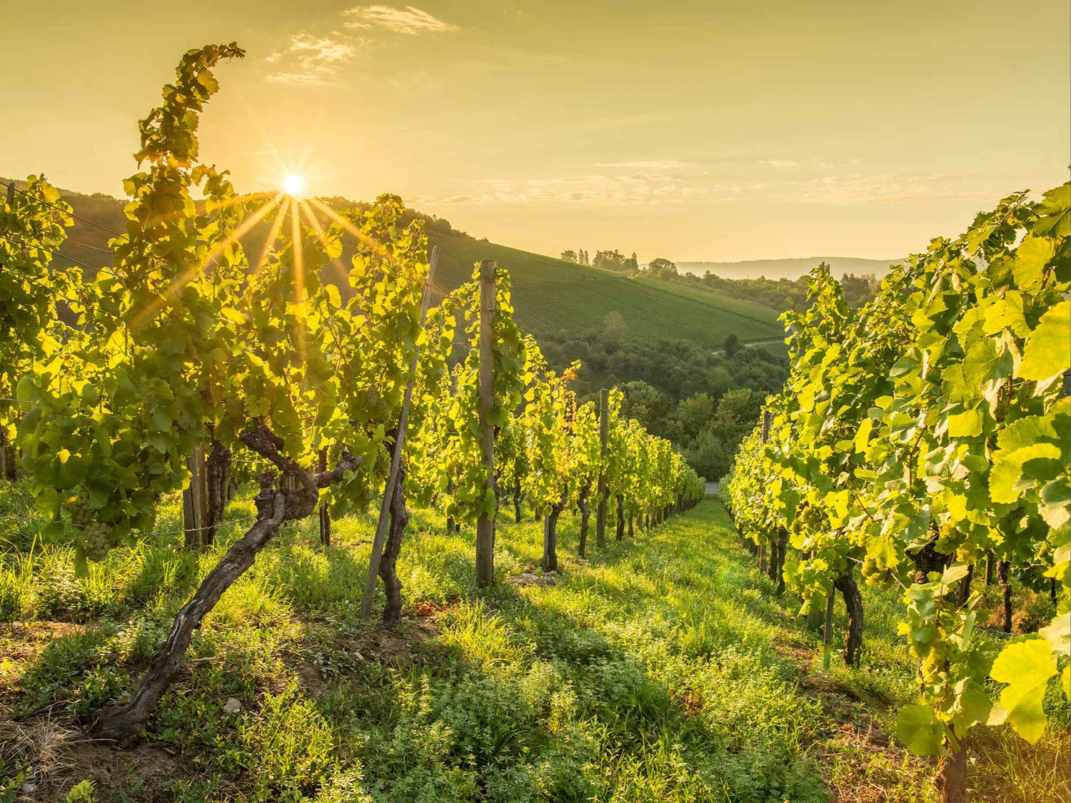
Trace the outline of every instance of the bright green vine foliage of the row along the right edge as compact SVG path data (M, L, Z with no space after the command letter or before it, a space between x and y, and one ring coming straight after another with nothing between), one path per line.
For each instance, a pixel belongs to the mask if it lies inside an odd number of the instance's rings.
M769 431L743 441L726 483L750 536L789 529L785 577L805 607L856 566L904 588L920 699L900 736L918 753L956 752L979 723L1036 741L1052 679L1071 694L1069 201L1068 184L1006 198L893 269L857 314L814 271L812 306L784 317L791 375L767 399ZM992 665L978 595L960 593L986 554L1043 561L1062 587L1053 622ZM1008 684L995 702L987 677Z

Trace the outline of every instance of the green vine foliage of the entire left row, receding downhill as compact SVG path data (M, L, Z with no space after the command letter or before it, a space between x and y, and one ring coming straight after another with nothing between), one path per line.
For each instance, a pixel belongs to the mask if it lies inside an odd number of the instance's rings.
M198 443L238 450L240 436L261 426L310 468L322 453L331 461L344 451L359 457L360 467L326 494L337 511L363 507L387 474L410 380L410 488L438 498L455 518L494 516L503 480L519 481L541 510L564 504L601 472L637 510L702 495L667 441L619 420L618 392L602 456L594 405L577 406L568 390L575 366L564 377L546 372L534 340L513 321L504 270L495 275L486 416L502 459L488 488L479 271L422 327L426 239L419 219L401 227L397 196L338 212L325 227L292 198L239 196L225 170L203 164L197 131L218 90L214 70L243 55L230 44L182 57L161 105L139 124L124 231L110 243L111 264L95 276L49 264L47 252L60 245L71 216L43 180L31 177L26 194L3 207L0 282L10 325L0 335L0 381L17 378L22 414L0 411L5 425L18 419L36 503L55 528L77 531L80 570L152 529L159 497L188 482L186 457ZM281 236L251 264L240 237L272 214ZM358 236L348 268L338 262L346 233ZM348 301L320 278L331 263L349 284ZM254 457L250 465L265 464Z

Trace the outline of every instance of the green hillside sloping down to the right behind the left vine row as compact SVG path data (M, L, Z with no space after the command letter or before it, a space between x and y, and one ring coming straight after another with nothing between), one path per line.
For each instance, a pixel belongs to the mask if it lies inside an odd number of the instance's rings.
M108 229L123 230L121 199L65 190L61 195L76 214ZM325 200L334 207L344 203L342 199ZM262 249L268 228L266 222L261 223L243 238L251 259ZM518 324L537 337L559 332L579 334L590 329L602 331L604 319L613 312L624 318L624 338L637 343L683 339L703 347L719 347L730 333L744 343L782 334L776 313L761 304L719 293L697 293L663 282L629 278L476 240L451 230L441 221L429 225L427 231L429 243L440 248L437 285L453 289L471 276L477 260L497 260L513 277ZM64 255L93 267L110 261L108 232L76 219L69 237L61 251ZM348 254L344 254L344 263L348 263L347 259Z

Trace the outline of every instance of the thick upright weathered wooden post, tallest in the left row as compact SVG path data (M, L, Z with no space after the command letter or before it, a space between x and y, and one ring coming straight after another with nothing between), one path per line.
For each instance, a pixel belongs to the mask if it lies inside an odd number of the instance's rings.
M487 423L487 413L495 403L496 267L492 259L484 259L480 262L480 428L482 430L483 466L487 472L484 488L492 491L495 487L495 428ZM485 511L480 514L480 518L476 522L476 585L491 586L494 581L495 519L488 516Z

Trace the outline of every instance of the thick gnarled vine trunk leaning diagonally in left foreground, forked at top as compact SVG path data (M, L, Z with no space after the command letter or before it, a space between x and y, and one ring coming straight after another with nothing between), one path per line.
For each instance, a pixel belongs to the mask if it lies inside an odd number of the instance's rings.
M273 463L282 473L275 486L275 474L260 475L260 493L256 496L257 520L209 572L190 602L182 606L163 646L149 663L149 670L134 695L125 702L105 707L91 727L97 739L121 739L145 727L160 698L185 667L185 652L194 631L215 607L223 593L253 565L257 554L278 532L284 521L305 518L316 510L319 489L342 480L347 470L356 469L360 459L348 453L331 471L312 473L282 453L283 441L263 424L243 431L239 439L260 456ZM290 482L286 482L286 480Z

